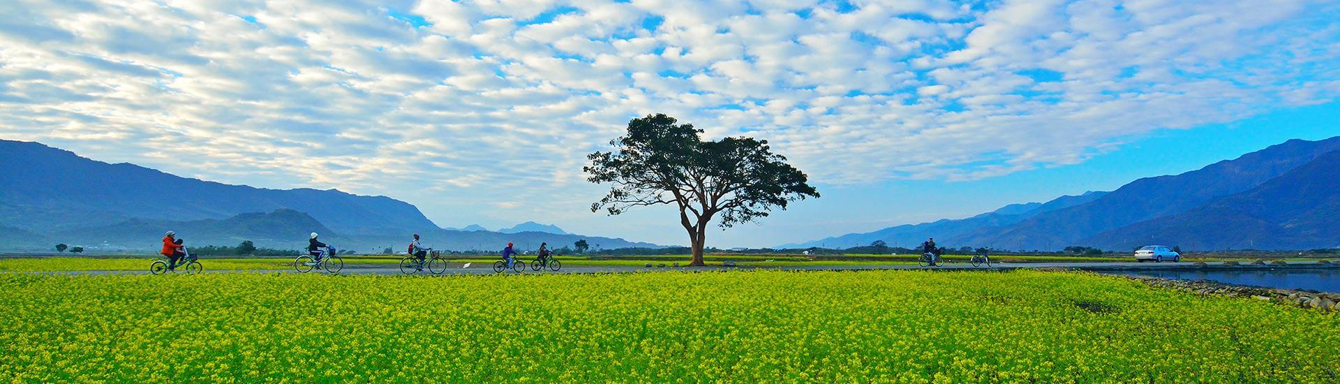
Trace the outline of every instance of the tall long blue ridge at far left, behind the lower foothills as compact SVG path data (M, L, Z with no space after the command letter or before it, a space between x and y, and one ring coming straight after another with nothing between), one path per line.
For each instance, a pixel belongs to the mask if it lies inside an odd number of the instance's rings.
M36 142L0 140L0 224L46 232L130 219L228 219L295 209L347 232L437 228L414 205L335 189L264 189L107 164Z

